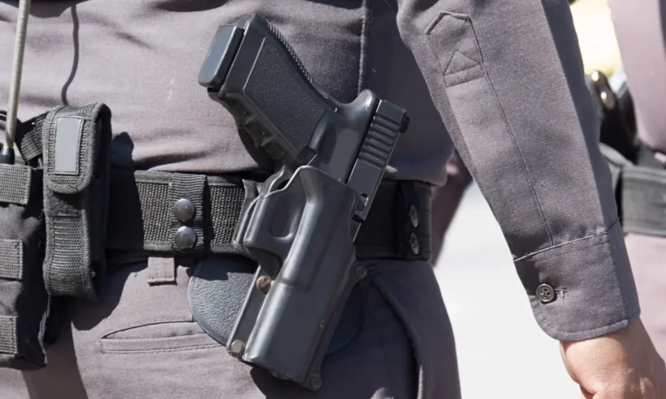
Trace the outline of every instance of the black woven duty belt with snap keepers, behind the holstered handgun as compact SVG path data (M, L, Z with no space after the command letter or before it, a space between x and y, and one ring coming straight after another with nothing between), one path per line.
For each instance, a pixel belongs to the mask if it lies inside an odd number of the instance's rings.
M255 189L234 176L114 169L107 249L241 253L234 232ZM357 236L357 257L429 259L430 192L424 182L384 180Z

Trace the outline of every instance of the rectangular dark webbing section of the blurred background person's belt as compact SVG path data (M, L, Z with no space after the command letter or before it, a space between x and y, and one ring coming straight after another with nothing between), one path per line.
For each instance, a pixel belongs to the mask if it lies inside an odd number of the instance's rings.
M622 227L625 232L666 237L666 170L622 170Z

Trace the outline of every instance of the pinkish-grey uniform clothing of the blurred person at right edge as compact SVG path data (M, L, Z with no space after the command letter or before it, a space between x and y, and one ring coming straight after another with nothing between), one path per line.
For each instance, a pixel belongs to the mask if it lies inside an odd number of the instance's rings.
M666 15L664 0L609 0L622 65L633 97L638 135L666 153ZM666 237L631 234L626 247L638 288L641 319L666 358Z

